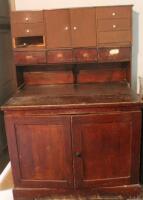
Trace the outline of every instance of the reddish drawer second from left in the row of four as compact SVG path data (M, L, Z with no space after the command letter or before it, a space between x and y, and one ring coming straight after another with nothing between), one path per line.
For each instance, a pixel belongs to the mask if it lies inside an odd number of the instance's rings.
M48 51L48 63L71 63L72 50Z

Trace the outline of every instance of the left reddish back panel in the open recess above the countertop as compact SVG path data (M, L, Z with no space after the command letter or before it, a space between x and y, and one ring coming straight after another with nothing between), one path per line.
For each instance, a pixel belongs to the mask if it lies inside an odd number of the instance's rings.
M24 80L27 85L46 85L73 83L71 71L55 72L25 72Z

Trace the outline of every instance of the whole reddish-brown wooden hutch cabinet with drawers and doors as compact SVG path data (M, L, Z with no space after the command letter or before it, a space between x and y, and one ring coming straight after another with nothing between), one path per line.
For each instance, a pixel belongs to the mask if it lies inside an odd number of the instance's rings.
M132 6L11 13L18 92L3 106L15 200L140 191Z

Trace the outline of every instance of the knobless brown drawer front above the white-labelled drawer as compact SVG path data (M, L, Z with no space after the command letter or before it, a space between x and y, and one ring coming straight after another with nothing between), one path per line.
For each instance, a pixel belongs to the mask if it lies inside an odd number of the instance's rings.
M107 31L97 33L98 44L130 44L131 32L130 31Z

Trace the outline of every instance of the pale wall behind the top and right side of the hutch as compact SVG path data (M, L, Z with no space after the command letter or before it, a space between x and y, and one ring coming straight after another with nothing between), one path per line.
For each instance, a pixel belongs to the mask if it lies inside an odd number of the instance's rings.
M11 0L13 4L14 0ZM143 1L142 0L15 0L16 10L39 10L85 6L133 4L132 87L136 89L138 76L143 76Z

